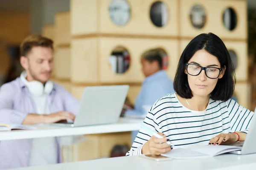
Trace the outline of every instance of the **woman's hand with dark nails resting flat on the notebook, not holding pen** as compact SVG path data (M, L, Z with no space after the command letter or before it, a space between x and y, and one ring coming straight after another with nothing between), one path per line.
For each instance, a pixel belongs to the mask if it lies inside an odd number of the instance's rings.
M210 140L209 145L220 145L222 142L233 143L238 139L239 136L236 133L220 133Z

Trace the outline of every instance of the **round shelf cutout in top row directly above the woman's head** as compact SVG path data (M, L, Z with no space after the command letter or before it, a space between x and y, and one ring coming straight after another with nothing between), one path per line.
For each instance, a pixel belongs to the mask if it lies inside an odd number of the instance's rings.
M195 28L203 28L206 23L206 12L201 5L194 5L189 13L192 26Z

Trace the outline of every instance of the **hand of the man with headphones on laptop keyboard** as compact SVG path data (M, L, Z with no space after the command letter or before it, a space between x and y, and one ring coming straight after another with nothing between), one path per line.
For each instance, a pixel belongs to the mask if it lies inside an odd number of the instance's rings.
M67 119L71 119L74 121L75 118L76 118L76 116L70 112L59 111L56 113L44 115L44 122L45 123L55 123L55 122L59 122L59 121L67 120Z

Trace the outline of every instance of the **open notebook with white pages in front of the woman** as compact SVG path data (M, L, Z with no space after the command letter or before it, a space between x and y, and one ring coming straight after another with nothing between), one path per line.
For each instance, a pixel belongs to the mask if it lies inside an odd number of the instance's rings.
M161 155L173 159L191 159L200 157L212 157L241 149L242 147L238 146L206 145L177 149L174 148L170 152L163 153Z

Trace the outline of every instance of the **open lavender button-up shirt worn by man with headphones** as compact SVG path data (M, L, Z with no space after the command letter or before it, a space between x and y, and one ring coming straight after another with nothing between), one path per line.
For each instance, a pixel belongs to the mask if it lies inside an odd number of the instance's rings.
M51 113L68 111L76 115L78 112L79 100L60 85L54 83L49 98ZM2 85L0 88L0 122L21 124L29 113L36 113L36 106L20 78ZM0 169L27 167L31 147L32 139L0 141ZM58 150L58 162L61 162L60 147Z

